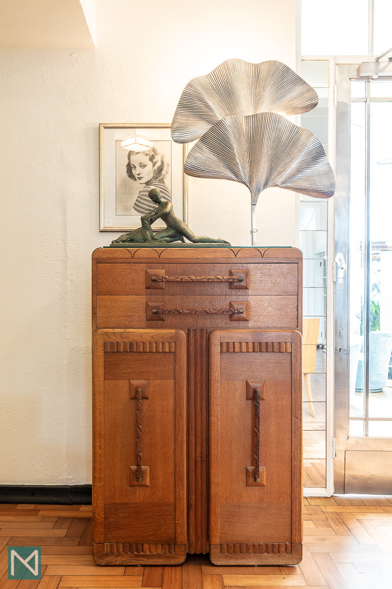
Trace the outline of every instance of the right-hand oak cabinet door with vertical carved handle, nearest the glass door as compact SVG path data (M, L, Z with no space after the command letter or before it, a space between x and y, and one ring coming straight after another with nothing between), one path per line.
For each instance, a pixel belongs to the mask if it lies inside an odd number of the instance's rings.
M301 560L301 336L210 334L209 542L215 564Z

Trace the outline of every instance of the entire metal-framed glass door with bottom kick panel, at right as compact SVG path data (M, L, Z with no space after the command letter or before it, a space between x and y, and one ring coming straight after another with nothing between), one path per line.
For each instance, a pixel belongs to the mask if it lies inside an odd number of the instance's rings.
M392 484L392 81L358 80L352 69L337 68L337 161L349 177L337 176L335 481L337 492L385 493Z

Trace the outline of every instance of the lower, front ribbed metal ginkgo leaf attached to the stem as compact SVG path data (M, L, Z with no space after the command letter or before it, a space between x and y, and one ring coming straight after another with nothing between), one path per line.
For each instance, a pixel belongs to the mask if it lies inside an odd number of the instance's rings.
M218 121L192 147L184 171L241 182L249 188L252 204L269 186L317 198L328 198L335 190L333 171L316 135L274 112Z

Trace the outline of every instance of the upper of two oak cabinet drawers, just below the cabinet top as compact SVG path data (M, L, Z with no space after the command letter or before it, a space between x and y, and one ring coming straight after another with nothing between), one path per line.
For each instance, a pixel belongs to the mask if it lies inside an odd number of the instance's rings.
M239 280L234 282L236 278ZM155 292L162 296L297 294L298 264L97 264L98 295Z

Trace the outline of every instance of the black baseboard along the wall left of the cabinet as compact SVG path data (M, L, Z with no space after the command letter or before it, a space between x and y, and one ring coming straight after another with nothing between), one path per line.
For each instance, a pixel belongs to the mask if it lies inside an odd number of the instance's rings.
M0 485L0 503L91 505L91 485Z

